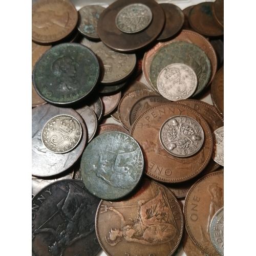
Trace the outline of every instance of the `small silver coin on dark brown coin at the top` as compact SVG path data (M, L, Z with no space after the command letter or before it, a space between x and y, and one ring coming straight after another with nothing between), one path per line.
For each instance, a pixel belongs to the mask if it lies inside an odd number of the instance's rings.
M116 15L116 26L124 33L137 33L150 25L152 16L146 5L128 5Z

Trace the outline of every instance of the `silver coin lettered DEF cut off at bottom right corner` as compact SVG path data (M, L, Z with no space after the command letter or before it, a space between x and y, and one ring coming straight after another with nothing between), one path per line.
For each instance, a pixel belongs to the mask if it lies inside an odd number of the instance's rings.
M224 207L216 211L211 219L210 240L218 253L224 256Z

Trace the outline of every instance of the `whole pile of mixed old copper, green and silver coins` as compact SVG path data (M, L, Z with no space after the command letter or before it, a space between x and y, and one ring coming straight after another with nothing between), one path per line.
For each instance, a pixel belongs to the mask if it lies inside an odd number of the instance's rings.
M223 0L32 5L32 255L224 255L223 28Z

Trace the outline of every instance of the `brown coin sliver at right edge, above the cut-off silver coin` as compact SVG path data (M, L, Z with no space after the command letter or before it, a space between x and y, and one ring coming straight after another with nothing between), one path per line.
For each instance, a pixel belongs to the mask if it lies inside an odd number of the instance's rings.
M210 94L215 107L224 116L224 66L216 73Z

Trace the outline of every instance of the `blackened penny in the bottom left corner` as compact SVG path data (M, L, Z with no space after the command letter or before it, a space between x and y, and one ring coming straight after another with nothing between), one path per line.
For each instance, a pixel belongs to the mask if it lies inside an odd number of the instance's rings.
M56 181L40 190L32 199L32 255L95 256L99 202L79 180Z

